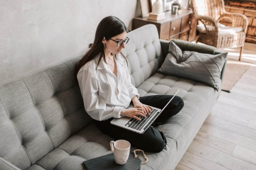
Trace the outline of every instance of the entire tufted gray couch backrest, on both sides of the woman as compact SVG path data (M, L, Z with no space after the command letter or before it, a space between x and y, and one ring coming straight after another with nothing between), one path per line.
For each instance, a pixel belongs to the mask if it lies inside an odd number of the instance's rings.
M127 35L126 55L136 87L163 62L155 25ZM0 157L26 169L92 122L74 69L79 55L0 83Z

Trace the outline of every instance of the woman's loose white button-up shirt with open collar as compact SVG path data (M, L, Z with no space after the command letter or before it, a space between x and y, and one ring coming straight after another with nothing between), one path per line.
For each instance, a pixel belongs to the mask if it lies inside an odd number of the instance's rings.
M117 77L103 58L97 67L98 60L99 55L82 66L77 73L85 111L97 121L120 118L120 113L130 105L131 99L134 96L139 98L138 90L131 83L126 61L121 54L117 55L117 60L114 57Z

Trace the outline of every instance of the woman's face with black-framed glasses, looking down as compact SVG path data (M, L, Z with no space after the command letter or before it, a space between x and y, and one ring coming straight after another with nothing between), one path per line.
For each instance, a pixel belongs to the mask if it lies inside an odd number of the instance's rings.
M104 37L102 42L105 43L105 50L108 50L110 53L119 54L122 51L122 49L125 48L125 43L123 43L120 47L118 47L115 41L125 40L126 35L127 35L127 32L125 31L114 37L108 37L108 38L111 38L112 40Z

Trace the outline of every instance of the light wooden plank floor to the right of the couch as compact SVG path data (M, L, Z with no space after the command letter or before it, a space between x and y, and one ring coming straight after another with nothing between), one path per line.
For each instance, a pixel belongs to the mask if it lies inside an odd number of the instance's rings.
M175 170L256 170L256 44L244 49L241 61L253 65L231 93L221 91ZM238 60L239 48L223 51Z

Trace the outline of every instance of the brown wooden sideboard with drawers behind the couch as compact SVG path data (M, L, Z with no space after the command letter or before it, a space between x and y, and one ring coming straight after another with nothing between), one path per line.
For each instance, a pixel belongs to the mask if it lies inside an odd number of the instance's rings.
M179 10L177 15L171 14L171 11L166 11L165 17L165 19L159 21L148 20L148 17L134 18L132 20L132 30L146 24L154 24L157 27L159 39L195 40L196 24L191 24L194 19L192 10Z

